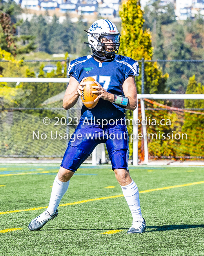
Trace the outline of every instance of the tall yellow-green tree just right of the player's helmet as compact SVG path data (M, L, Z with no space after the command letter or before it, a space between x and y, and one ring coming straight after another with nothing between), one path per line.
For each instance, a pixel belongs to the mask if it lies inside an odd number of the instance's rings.
M122 30L119 53L133 59L151 60L153 56L153 47L151 45L151 32L144 27L144 11L138 5L138 0L124 0L120 8L120 17L122 19ZM163 93L166 89L166 80L168 74L163 75L162 70L157 63L145 63L145 93ZM138 92L141 93L141 72L136 78ZM133 112L126 111L128 119L133 118ZM131 134L132 126L127 126ZM132 154L132 143L130 154Z

